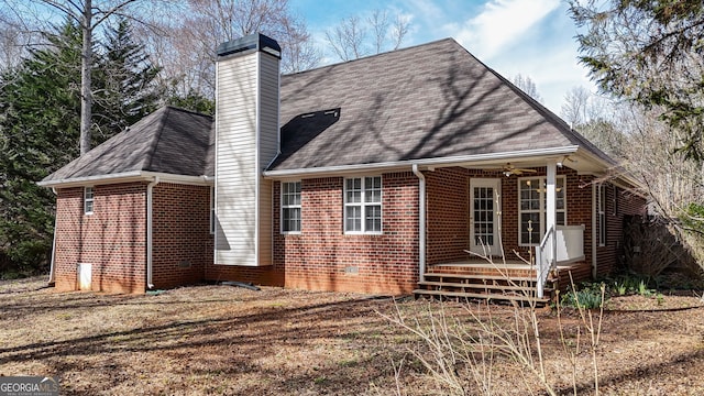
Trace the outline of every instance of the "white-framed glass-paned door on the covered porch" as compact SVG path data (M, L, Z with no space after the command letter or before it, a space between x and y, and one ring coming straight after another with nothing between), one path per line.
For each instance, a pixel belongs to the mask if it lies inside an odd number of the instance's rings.
M501 255L498 211L501 179L470 180L470 250L477 254Z

